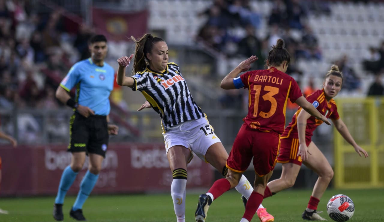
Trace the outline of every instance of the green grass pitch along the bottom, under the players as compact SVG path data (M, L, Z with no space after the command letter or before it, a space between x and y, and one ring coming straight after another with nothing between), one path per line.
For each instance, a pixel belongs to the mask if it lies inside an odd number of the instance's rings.
M194 222L195 209L199 192L187 191L186 221ZM326 213L326 204L333 195L345 194L355 204L355 213L349 220L384 221L382 218L384 194L380 189L369 190L334 190L329 189L321 198L318 211L328 221L332 221ZM303 221L301 214L306 208L311 190L282 191L263 201L264 207L275 217L275 221ZM229 191L213 202L209 209L207 222L240 221L244 207L240 194ZM52 217L55 197L2 198L0 208L9 214L0 214L2 222L46 222L55 221ZM74 221L69 217L69 210L74 196L65 199L64 221ZM83 207L84 216L88 221L116 222L168 222L176 221L170 195L167 194L132 194L132 195L91 195ZM257 216L252 221L259 221Z

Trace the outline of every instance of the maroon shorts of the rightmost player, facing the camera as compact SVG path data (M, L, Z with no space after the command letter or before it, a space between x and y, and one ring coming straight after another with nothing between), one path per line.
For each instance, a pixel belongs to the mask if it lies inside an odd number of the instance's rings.
M311 140L306 140L307 146L311 143ZM303 163L301 156L297 156L299 152L299 139L298 138L284 138L280 139L280 152L277 157L277 162L280 163L294 163L299 166Z

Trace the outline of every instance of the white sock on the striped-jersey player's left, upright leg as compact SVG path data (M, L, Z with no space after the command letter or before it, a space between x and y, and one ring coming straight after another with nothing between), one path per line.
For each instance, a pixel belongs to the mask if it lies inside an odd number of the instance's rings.
M170 186L170 195L173 200L173 208L177 222L185 221L185 186L187 185L186 179L173 179Z

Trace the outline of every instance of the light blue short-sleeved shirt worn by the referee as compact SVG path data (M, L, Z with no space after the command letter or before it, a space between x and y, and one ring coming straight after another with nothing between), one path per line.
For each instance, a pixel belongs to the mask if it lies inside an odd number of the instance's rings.
M91 58L75 63L60 86L66 91L76 86L76 102L88 106L96 115L107 116L111 111L109 94L113 90L114 70L104 62L97 66Z

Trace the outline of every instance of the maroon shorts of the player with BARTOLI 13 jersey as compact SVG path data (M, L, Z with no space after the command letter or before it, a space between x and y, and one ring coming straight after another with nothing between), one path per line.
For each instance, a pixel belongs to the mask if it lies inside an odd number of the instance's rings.
M244 172L253 157L255 172L264 176L275 167L279 147L279 134L258 131L243 124L225 165L232 171Z

